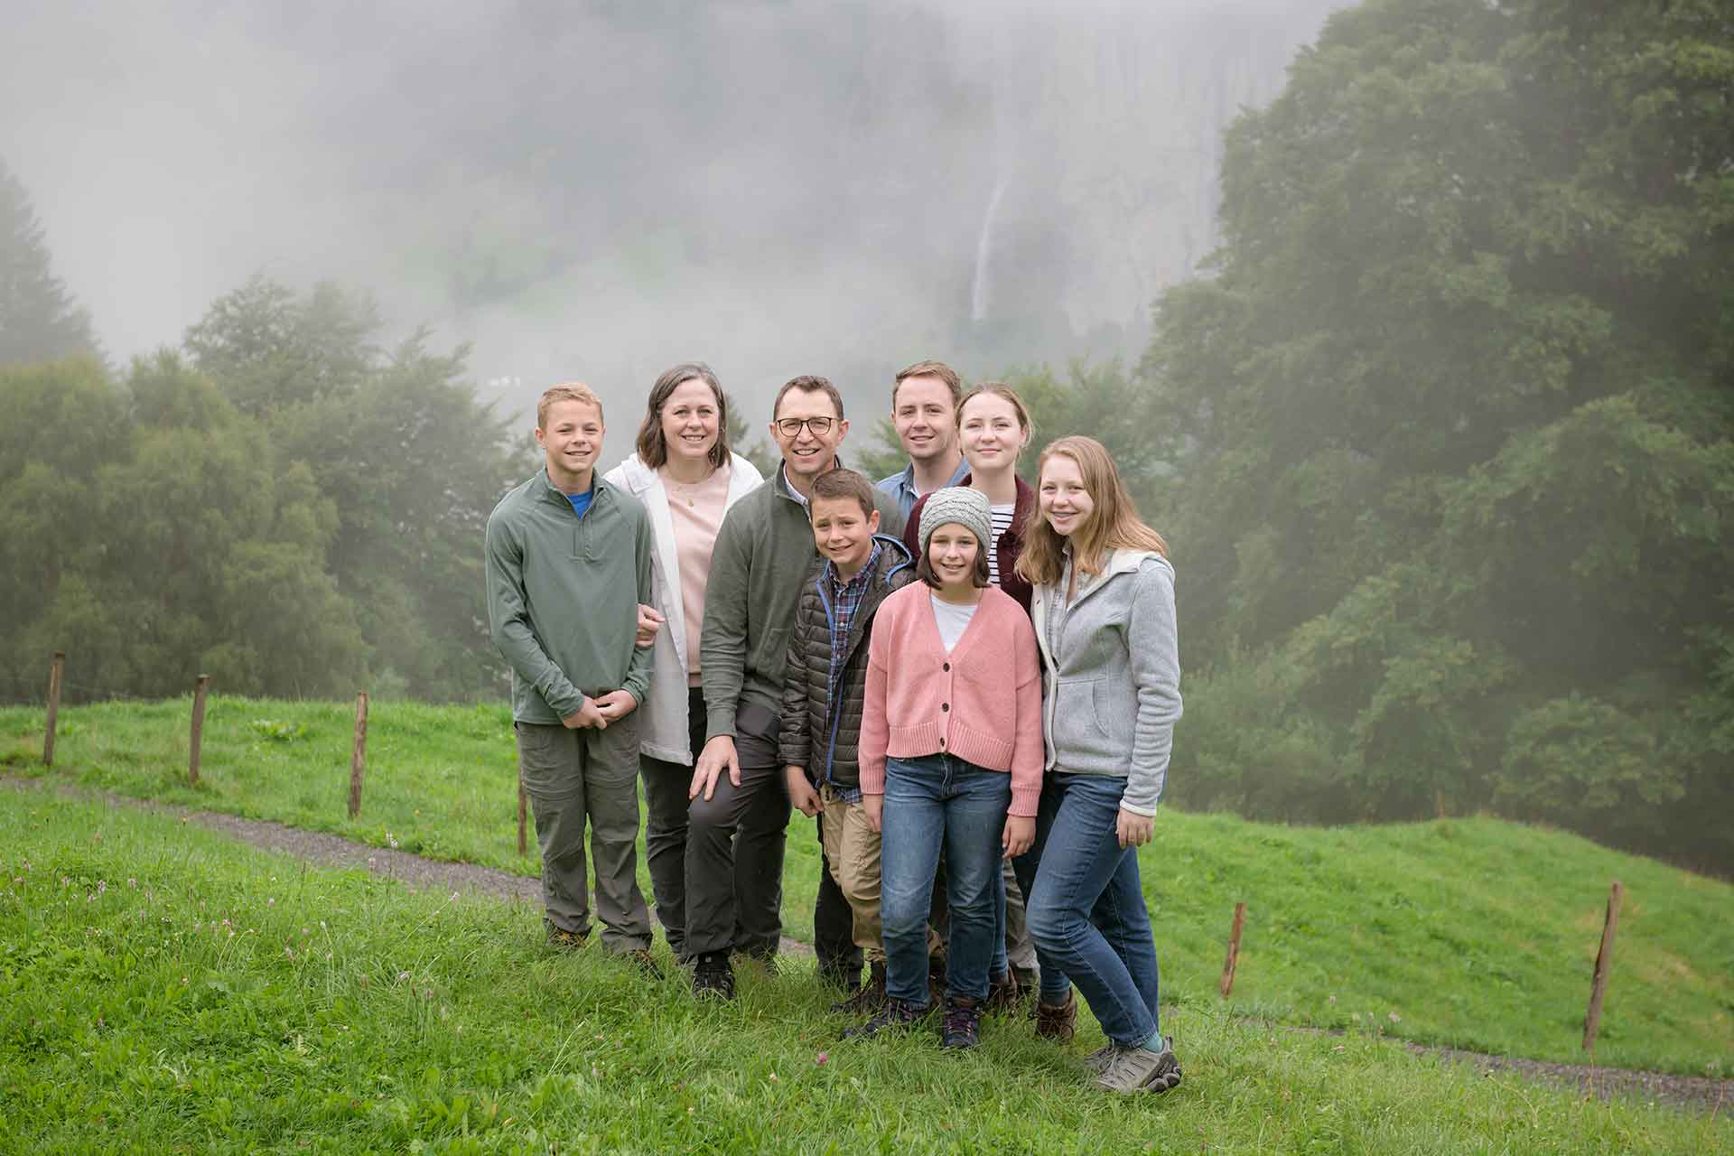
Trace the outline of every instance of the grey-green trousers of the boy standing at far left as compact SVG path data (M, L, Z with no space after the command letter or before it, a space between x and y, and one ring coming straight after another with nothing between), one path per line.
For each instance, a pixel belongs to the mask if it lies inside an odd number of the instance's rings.
M610 951L650 946L650 912L638 891L638 723L607 730L517 723L518 773L536 813L543 906L562 931L590 934L584 825L596 867L596 917Z

